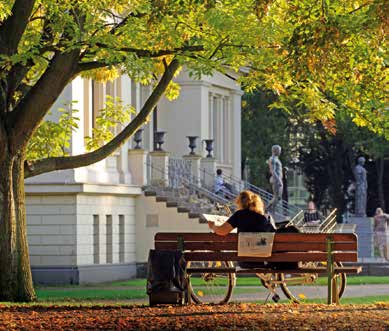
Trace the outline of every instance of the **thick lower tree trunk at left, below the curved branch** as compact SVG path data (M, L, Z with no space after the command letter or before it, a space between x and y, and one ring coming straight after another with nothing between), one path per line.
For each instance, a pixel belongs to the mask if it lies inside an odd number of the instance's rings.
M7 155L0 164L0 301L36 298L28 254L24 157Z

